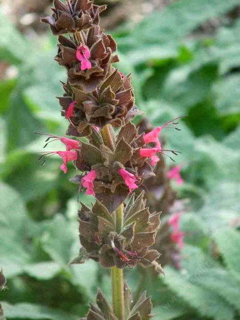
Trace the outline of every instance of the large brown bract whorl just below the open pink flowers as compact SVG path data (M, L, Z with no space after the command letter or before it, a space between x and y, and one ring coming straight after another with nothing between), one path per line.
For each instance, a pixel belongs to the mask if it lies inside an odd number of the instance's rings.
M121 232L116 231L114 215L97 200L92 209L81 205L79 211L79 233L87 257L99 261L102 266L143 267L154 266L162 271L156 259L159 253L150 249L160 226L158 213L150 214L143 199L133 194L125 206Z

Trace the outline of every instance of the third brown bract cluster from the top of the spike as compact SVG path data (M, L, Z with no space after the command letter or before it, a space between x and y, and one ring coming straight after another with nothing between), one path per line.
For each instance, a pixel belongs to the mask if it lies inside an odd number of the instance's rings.
M90 75L91 69L84 72L89 72ZM80 81L79 84L77 82L70 84L71 80L69 80L67 84L70 88L69 96L65 97L64 101L59 98L63 108L66 99L76 101L69 131L73 132L75 128L78 132L77 136L83 136L84 130L89 125L103 128L106 124L111 124L113 127L121 127L140 114L134 105L130 75L123 78L117 69L109 67L105 80L93 89L99 81L98 77L90 76L89 82L85 81L84 85L80 84L82 75L79 75L76 80ZM91 80L93 80L92 83Z

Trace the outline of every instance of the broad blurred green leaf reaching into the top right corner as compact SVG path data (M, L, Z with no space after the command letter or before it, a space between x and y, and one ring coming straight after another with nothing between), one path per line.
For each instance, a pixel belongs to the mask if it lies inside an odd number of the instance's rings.
M237 6L237 0L181 0L166 6L161 12L147 16L131 33L135 45L139 43L169 43L178 41L202 22L224 14Z

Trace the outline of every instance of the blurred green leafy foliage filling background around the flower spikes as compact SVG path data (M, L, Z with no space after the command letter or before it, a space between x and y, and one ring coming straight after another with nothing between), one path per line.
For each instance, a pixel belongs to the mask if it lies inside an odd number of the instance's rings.
M156 319L240 319L240 19L212 34L196 31L237 0L179 0L138 26L113 32L125 74L131 72L139 108L154 126L180 115L181 132L166 129L167 147L180 150L188 198L182 230L182 269L146 279ZM65 72L53 57L56 39L26 38L1 15L0 57L17 77L0 81L0 267L9 319L77 319L97 286L110 294L108 271L93 261L67 266L78 254L77 188L52 157L37 163L44 139L60 134L56 96ZM59 148L52 144L52 150ZM90 204L91 197L80 195ZM132 289L138 271L127 273Z

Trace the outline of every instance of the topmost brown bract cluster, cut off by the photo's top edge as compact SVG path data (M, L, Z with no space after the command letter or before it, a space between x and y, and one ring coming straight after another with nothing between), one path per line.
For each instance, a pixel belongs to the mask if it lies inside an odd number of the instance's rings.
M106 7L93 5L88 0L68 0L65 3L54 0L53 15L41 21L50 24L54 35L75 33L98 25L100 13Z

